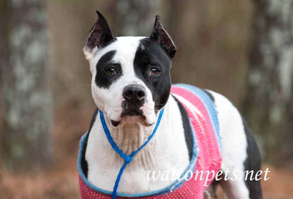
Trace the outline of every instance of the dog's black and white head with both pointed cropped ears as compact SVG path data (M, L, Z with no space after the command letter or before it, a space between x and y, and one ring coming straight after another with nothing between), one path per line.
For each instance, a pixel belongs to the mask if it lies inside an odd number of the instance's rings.
M170 95L176 46L159 16L150 37L113 38L107 21L97 14L84 46L93 74L93 99L113 126L126 122L150 126Z

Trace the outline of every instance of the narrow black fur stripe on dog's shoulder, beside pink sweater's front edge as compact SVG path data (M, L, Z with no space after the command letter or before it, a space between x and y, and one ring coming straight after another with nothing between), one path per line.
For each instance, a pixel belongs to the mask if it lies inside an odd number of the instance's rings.
M171 95L171 96L177 102L180 113L181 113L185 142L186 142L186 146L188 149L188 156L189 156L189 161L190 161L192 158L192 152L193 152L193 136L192 136L192 131L191 131L191 127L190 127L189 117L188 117L188 114L187 114L184 106L181 104L181 102L179 102L179 100L176 97L174 97L173 95Z

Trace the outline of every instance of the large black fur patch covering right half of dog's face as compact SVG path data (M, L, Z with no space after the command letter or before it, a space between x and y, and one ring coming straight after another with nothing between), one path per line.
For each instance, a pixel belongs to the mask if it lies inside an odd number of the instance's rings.
M171 90L171 58L160 47L160 45L144 38L139 41L134 57L134 72L151 90L155 110L163 108L167 103ZM157 75L150 74L151 68L159 70Z

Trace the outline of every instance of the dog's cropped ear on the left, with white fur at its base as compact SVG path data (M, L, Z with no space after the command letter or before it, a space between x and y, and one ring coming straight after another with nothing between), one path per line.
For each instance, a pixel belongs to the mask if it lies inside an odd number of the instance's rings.
M97 50L103 48L103 46L114 39L104 16L99 11L96 12L98 14L98 19L93 25L90 33L88 33L84 46L84 55L88 61L93 58Z

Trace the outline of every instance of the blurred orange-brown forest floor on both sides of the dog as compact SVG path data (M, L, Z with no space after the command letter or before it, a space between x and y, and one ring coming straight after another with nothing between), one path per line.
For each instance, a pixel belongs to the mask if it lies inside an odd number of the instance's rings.
M67 118L64 121L64 118ZM80 198L77 167L79 139L89 127L91 115L72 114L63 117L61 114L55 119L54 141L55 162L50 169L44 169L38 175L19 175L0 170L0 198ZM62 121L62 122L61 122ZM270 177L261 181L263 198L289 199L293 195L292 170L274 168L263 164L262 169L269 168ZM262 176L263 177L263 176ZM218 188L219 198L223 198Z

